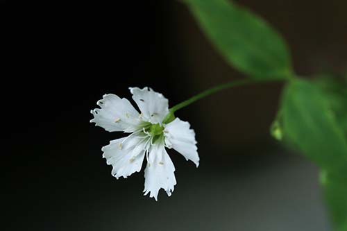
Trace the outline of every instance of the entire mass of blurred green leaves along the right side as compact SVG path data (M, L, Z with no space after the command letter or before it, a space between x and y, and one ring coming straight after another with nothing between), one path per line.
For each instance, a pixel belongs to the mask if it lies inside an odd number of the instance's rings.
M257 15L228 0L185 3L232 67L258 80L287 80L271 132L321 168L332 221L347 231L347 75L298 78L287 45Z

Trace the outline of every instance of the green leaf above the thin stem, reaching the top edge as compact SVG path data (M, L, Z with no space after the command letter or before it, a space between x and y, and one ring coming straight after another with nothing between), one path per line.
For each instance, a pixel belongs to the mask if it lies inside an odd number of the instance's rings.
M227 0L185 0L226 60L253 78L291 76L285 42L262 18Z

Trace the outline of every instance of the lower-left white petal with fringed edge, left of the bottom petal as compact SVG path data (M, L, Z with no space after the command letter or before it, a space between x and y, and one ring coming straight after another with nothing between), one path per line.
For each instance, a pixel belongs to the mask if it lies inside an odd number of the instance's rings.
M104 146L103 158L106 163L112 165L112 176L127 178L132 173L139 172L144 160L146 146L149 144L149 137L141 135L130 135L121 139L115 139L108 146Z

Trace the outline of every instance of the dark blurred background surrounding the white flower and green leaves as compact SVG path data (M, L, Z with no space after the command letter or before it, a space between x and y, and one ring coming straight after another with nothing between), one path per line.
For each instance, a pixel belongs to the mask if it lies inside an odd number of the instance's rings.
M346 68L346 1L239 2L282 33L298 74ZM219 92L177 113L196 131L201 165L169 152L178 181L170 198L142 196L143 171L113 178L101 147L122 134L89 123L103 94L130 99L128 87L149 86L172 106L244 76L179 1L94 4L37 3L11 17L8 230L328 230L316 167L269 135L281 83Z

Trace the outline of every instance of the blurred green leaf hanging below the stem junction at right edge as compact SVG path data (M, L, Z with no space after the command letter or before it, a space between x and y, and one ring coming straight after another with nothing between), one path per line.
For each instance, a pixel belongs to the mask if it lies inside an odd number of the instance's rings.
M285 136L304 155L326 170L347 167L344 132L315 85L291 80L282 99L282 113Z

